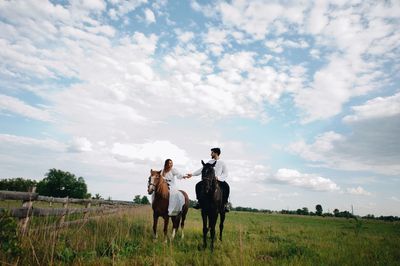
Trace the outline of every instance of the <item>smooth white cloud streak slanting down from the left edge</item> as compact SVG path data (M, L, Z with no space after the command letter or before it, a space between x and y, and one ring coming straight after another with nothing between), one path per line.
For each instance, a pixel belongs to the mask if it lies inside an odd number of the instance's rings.
M51 121L51 116L48 110L31 106L17 98L4 94L0 94L0 114L1 112L11 112L45 122Z

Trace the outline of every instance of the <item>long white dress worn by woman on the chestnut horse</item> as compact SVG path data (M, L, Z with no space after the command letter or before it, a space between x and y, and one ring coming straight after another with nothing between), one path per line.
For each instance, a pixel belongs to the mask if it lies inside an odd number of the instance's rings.
M182 179L183 175L175 168L172 168L167 173L163 172L162 174L169 185L168 215L176 216L185 204L185 197L181 192L179 192L176 186L176 179Z

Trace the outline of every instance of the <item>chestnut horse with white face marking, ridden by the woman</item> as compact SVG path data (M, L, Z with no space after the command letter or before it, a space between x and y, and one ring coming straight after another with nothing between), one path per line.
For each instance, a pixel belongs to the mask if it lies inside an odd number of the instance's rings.
M169 189L168 183L165 181L161 175L161 171L150 170L150 177L147 184L147 192L149 194L154 194L154 199L152 203L153 208L153 234L154 238L157 238L157 222L158 217L164 219L164 238L167 240L167 230L169 217L172 220L172 239L174 239L176 231L179 228L179 223L181 223L182 238L184 237L183 228L185 227L186 214L189 209L189 197L185 191L179 190L185 197L185 204L182 207L182 211L176 216L168 216L168 203L169 203Z

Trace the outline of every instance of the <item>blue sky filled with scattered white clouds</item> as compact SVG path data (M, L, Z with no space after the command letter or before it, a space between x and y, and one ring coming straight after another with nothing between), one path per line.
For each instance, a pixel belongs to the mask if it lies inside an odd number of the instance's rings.
M132 200L220 147L233 206L400 216L399 28L396 0L0 0L0 178Z

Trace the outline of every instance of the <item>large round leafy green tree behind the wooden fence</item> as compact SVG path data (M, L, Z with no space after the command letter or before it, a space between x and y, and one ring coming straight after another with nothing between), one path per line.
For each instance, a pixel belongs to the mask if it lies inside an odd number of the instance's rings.
M36 191L40 195L60 198L84 199L90 197L83 177L76 178L74 174L54 168L50 169L46 177L37 184Z

